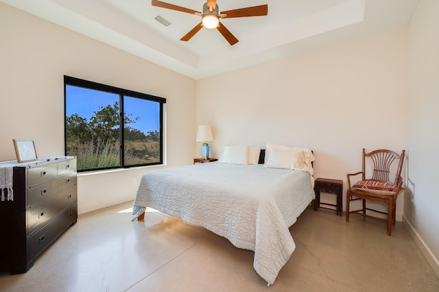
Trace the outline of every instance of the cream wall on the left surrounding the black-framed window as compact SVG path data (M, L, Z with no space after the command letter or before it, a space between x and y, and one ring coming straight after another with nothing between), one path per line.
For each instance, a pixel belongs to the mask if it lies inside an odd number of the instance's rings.
M15 159L12 138L34 139L40 157L64 155L64 75L165 97L167 167L191 163L194 80L3 3L0 160ZM141 175L157 168L79 175L79 212L134 199Z

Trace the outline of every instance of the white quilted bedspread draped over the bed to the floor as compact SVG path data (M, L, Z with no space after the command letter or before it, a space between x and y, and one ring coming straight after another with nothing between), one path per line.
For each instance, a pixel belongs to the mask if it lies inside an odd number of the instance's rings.
M253 250L273 284L296 248L288 228L313 198L307 172L211 162L145 173L132 219L148 206L211 230Z

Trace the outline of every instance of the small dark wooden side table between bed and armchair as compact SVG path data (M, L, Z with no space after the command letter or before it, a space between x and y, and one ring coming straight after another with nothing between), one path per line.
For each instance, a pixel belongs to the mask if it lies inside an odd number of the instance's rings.
M342 216L343 212L343 181L330 180L329 178L318 178L314 182L314 192L316 193L316 201L314 202L314 210L320 207L320 204L327 206L334 206L337 215ZM320 203L320 192L331 193L337 195L337 204ZM320 207L325 208L325 207ZM334 210L333 208L326 208Z

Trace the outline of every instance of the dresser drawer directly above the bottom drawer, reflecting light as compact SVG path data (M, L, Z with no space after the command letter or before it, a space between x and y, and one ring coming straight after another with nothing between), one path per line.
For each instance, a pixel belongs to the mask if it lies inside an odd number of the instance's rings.
M32 234L77 199L76 188L67 188L40 205L27 210L27 234Z

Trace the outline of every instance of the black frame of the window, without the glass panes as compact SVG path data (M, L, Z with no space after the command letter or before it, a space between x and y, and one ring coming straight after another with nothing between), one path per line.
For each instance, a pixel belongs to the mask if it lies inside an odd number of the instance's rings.
M163 145L165 139L165 132L164 132L164 123L163 117L164 117L164 105L166 104L166 99L164 97L157 97L155 95L149 95L146 93L139 93L137 91L123 89L115 86L110 86L106 84L101 84L97 82L92 82L88 80L82 80L77 77L71 77L64 75L64 155L67 156L67 90L66 86L77 86L82 88L87 88L91 90L99 90L106 93L113 93L119 95L119 104L120 104L120 119L119 119L119 141L120 141L120 166L116 167L101 167L101 168L95 168L95 169L78 169L78 172L85 172L85 171L101 171L101 170L108 170L108 169L128 169L131 167L143 167L143 166L150 166L150 165L163 165L163 149L165 149L165 145ZM155 101L159 103L160 108L160 129L159 129L159 143L160 143L160 161L158 162L151 162L151 163L145 163L145 164L139 164L139 165L125 165L125 158L124 158L124 149L125 149L125 139L124 139L124 125L123 125L123 114L124 114L124 108L123 108L123 97L134 97L139 99L145 99L148 101Z

